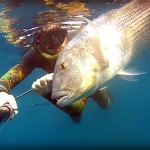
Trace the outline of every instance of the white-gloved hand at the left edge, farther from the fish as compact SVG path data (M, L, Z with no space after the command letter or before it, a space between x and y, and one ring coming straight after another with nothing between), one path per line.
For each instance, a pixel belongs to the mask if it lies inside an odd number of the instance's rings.
M11 111L11 118L13 118L18 113L18 107L16 100L13 95L10 95L6 92L0 92L0 107L4 106L5 104L9 104L12 108Z

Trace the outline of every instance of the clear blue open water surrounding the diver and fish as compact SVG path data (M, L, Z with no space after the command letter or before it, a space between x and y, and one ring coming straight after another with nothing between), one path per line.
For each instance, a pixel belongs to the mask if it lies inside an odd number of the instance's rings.
M95 10L91 15L93 18L119 6L86 3ZM23 29L32 26L32 15L35 12L47 9L49 7L38 1L27 1L15 8L11 15L21 18L16 28ZM0 35L0 76L20 61L24 54L22 47L8 44L3 35ZM145 50L131 64L147 72L139 76L137 82L115 77L108 83L112 101L107 110L90 99L78 124L32 92L18 99L19 113L0 132L0 148L150 147L149 58L150 52ZM41 69L36 69L11 94L18 96L30 89L32 82L44 74Z

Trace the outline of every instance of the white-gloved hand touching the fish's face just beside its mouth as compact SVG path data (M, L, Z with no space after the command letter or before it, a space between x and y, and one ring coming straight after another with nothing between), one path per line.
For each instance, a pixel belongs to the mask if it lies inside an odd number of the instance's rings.
M53 73L47 74L40 79L37 79L32 84L32 90L37 95L45 95L52 90L52 79L53 79Z

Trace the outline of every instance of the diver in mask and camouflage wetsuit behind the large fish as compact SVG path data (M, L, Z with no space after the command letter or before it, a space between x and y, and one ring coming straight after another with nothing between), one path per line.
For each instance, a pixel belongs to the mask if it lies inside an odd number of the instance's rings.
M51 99L52 73L59 52L67 43L67 31L58 26L44 29L34 37L31 49L22 60L0 78L0 107L6 106L13 118L18 113L17 102L10 90L25 79L35 68L42 68L48 74L33 82L32 90L42 95L56 107L57 101ZM70 106L58 107L70 116L80 116L85 108L87 98L81 99ZM11 107L9 107L9 104Z

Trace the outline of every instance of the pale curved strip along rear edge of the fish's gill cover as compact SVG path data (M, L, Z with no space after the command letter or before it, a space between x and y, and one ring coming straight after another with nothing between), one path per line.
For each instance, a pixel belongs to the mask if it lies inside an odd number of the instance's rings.
M100 46L100 38L99 38L99 35L98 35L98 30L96 28L96 26L93 24L93 22L85 17L83 17L83 19L88 23L88 25L91 27L92 30L92 34L94 35L94 39L92 40L91 42L91 45L93 44L96 48L96 45L97 45L97 48L95 49L95 53L92 53L92 55L94 55L95 58L97 58L100 66L101 66L101 69L105 69L109 64L108 64L108 59L104 56L104 53L101 49L101 46ZM97 42L97 43L95 43Z

